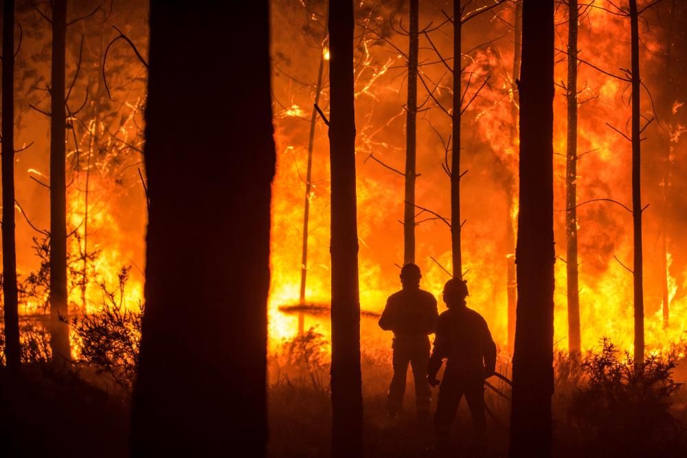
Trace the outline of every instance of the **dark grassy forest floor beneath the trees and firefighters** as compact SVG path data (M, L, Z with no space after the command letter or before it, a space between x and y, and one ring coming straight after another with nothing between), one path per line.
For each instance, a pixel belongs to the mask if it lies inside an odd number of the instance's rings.
M318 337L310 336L270 358L270 457L330 455L328 353L322 349ZM580 363L556 357L554 456L687 456L687 389L679 385L687 380L687 361L650 363L636 374L612 353L589 358ZM390 352L381 350L362 358L365 456L438 456L431 420L416 419L410 376L405 411L396 419L387 416L389 359ZM497 369L508 373L508 367ZM0 366L0 455L128 456L128 396L96 386L94 372L82 367L78 374L60 375L45 362L25 363L21 379L11 380ZM592 383L594 377L601 382ZM491 382L510 396L507 387ZM436 395L433 389L432 411ZM493 413L487 417L487 439L474 444L466 402L461 403L452 431L454 456L508 455L510 403L488 389L486 404Z

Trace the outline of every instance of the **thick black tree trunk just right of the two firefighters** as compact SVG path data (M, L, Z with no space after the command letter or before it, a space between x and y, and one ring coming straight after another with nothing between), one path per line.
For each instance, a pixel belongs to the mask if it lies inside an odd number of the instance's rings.
M523 3L517 321L510 456L551 455L554 1Z

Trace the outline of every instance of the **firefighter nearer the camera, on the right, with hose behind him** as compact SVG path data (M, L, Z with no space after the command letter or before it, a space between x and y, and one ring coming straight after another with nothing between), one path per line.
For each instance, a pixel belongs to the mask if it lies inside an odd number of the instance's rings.
M472 415L477 439L484 441L484 379L493 376L496 367L496 344L482 315L467 308L468 286L452 278L444 285L444 302L449 310L440 314L434 350L429 358L427 380L436 387L436 374L447 358L439 400L434 415L438 445L447 446L449 431L460 398L465 395Z

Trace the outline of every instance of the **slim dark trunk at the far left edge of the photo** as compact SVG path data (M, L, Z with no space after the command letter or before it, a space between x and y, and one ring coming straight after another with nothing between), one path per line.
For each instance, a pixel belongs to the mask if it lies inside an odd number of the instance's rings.
M2 273L5 311L5 363L21 368L19 310L14 242L14 0L3 1L2 38Z

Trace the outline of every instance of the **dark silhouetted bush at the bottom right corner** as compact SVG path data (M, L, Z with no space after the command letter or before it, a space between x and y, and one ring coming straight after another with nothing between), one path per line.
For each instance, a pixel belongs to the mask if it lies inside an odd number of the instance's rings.
M672 396L682 384L673 379L671 356L648 356L641 369L629 352L602 340L599 353L581 363L587 382L570 398L570 420L583 450L594 456L670 456L677 422Z

